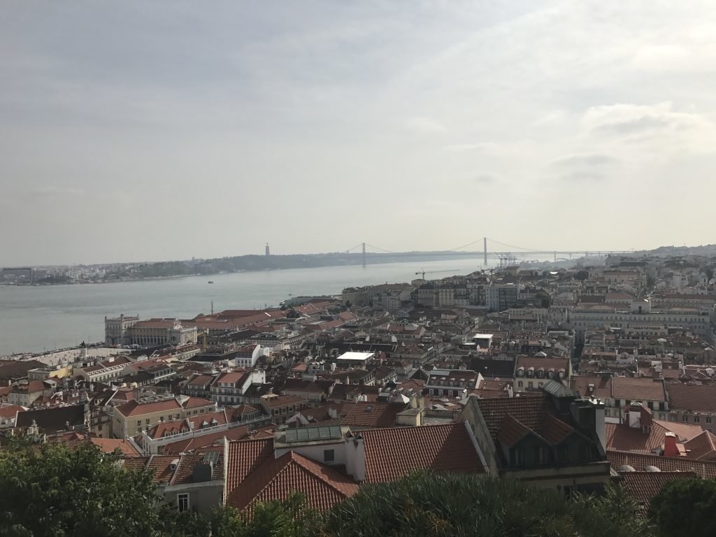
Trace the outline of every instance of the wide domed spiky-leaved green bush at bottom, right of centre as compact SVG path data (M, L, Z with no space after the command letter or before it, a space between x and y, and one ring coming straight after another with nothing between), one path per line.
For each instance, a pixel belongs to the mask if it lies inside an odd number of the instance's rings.
M645 537L606 508L567 500L516 480L414 473L369 485L326 514L324 535ZM636 513L632 513L636 518Z

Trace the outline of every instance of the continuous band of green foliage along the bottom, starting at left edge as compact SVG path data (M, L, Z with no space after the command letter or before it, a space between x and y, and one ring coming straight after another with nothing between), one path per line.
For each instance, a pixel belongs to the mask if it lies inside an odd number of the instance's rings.
M621 489L571 501L513 480L420 472L327 513L291 495L251 518L232 508L199 516L160 506L147 472L91 445L0 450L0 537L650 536L637 508Z

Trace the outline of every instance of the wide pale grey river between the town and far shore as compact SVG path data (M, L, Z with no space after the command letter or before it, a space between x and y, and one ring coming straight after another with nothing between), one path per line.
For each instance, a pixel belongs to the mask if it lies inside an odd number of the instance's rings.
M190 319L223 309L278 306L289 296L339 294L349 286L468 274L481 259L240 272L116 284L0 286L0 356L105 339L105 315ZM213 285L208 281L214 282Z

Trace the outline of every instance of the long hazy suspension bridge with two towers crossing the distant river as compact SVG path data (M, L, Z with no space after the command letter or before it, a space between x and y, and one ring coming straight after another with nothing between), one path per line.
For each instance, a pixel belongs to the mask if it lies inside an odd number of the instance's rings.
M488 249L488 241L490 247L498 246L500 249L491 250ZM480 250L467 250L466 248L474 248L475 245L482 243L483 249ZM501 249L509 248L509 249ZM558 250L549 248L523 248L521 246L513 246L511 244L501 243L495 241L493 238L483 237L477 241L473 241L462 246L456 246L449 250L440 251L413 251L413 252L397 252L386 250L385 248L379 248L369 243L360 243L349 248L346 253L362 253L363 266L367 264L367 258L374 254L394 254L401 257L410 256L425 256L426 254L440 255L440 256L455 256L455 257L483 257L483 263L488 264L488 258L500 258L500 259L514 259L518 256L550 256L553 257L554 261L565 260L558 256L609 256L615 253L634 253L634 250Z

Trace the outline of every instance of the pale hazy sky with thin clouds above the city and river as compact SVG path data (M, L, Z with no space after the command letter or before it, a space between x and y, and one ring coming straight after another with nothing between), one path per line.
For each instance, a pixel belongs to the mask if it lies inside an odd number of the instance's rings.
M5 0L0 266L714 243L715 87L713 0Z

